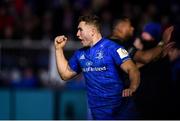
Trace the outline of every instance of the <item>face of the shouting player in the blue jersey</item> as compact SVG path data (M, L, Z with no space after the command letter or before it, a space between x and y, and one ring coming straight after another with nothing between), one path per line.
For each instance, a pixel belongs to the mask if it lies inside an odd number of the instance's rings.
M84 47L92 45L92 31L92 25L86 24L84 21L79 23L76 35L81 40Z

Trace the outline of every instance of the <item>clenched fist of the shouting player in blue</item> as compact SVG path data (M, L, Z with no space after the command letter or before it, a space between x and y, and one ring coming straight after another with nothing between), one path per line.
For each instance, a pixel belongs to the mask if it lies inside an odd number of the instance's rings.
M54 40L54 45L56 49L62 49L66 45L67 37L64 35L57 36Z

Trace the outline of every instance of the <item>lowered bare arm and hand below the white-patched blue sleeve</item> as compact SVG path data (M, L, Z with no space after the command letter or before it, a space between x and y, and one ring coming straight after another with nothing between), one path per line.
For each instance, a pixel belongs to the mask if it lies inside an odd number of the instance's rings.
M130 59L122 63L121 68L128 73L130 79L129 88L123 90L122 96L132 96L140 84L140 72L134 62Z

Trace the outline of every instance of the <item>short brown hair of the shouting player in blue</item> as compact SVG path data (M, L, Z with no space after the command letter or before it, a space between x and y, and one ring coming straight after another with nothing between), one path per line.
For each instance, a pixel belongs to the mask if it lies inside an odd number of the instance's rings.
M96 15L80 16L78 19L78 22L81 22L81 21L86 22L86 24L94 25L99 32L101 31L101 20L98 16Z

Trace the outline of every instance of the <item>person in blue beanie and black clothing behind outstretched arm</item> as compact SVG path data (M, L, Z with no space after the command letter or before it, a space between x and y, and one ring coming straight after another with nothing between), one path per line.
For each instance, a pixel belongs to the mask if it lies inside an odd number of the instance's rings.
M143 50L155 47L161 37L161 25L147 23L141 34ZM172 104L169 103L171 70L167 56L144 65L140 68L140 72L142 81L136 95L136 102L143 114L143 119L172 119Z

